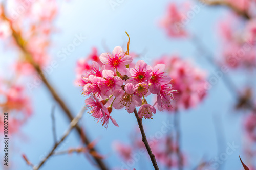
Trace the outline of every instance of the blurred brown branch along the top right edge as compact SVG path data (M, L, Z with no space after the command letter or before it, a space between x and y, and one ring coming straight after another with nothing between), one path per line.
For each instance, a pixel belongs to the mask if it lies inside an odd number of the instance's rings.
M250 19L250 15L248 14L247 11L244 10L240 10L239 8L237 8L236 6L234 6L232 3L227 2L225 0L199 0L200 2L209 5L209 6L227 6L230 9L232 9L234 12L236 12L238 15L244 17L245 19Z

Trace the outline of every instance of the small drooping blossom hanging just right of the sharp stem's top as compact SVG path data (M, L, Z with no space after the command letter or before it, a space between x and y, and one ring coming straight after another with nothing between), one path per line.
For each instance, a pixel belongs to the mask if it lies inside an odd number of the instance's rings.
M156 113L156 109L154 108L154 106L147 104L146 100L143 98L142 106L140 107L140 109L138 111L139 118L142 118L143 116L145 118L151 118L152 113Z

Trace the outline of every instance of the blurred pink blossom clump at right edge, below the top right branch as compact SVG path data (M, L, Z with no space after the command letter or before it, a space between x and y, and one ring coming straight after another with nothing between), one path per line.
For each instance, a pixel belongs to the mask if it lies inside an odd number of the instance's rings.
M220 35L225 44L220 54L222 61L230 68L255 68L255 20L246 22L245 26L241 26L239 23L237 16L229 16L219 22ZM242 29L238 29L241 27Z

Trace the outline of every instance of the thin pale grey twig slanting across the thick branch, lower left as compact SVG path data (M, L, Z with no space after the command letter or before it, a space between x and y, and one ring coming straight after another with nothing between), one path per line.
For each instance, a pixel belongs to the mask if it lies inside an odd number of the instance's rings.
M71 121L69 128L63 134L61 139L54 144L54 147L50 151L50 153L37 166L34 166L34 168L33 168L34 170L38 170L54 154L55 149L59 146L60 143L62 143L66 139L66 137L70 134L71 130L77 125L79 120L82 118L82 115L85 110L86 110L86 108L83 107L82 110L78 113L78 115Z

